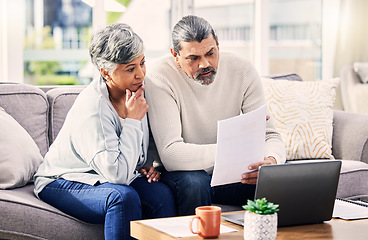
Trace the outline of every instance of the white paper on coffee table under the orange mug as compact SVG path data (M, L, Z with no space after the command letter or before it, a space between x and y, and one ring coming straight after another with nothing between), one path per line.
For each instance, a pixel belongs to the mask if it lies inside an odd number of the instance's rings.
M157 218L141 221L141 223L151 226L160 230L161 232L165 232L174 237L193 237L198 236L197 234L193 234L189 230L190 219L193 216L188 217L178 217L178 218ZM193 223L194 231L197 230L196 221ZM224 225L220 225L220 234L228 233L228 232L237 232L235 228L227 227Z

